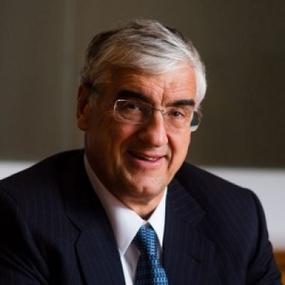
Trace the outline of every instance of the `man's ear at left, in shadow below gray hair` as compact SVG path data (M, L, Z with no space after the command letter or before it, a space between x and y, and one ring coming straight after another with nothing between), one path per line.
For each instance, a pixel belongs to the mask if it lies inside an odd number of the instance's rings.
M89 95L90 91L81 84L78 87L76 116L78 128L83 131L87 130L89 126L91 113L91 106L88 100Z

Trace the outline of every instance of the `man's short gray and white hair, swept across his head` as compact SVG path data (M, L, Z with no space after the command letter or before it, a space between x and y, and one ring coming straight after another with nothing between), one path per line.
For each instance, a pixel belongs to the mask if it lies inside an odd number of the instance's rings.
M192 42L177 31L152 19L135 19L118 28L98 33L86 51L81 84L93 97L100 94L118 68L132 68L156 75L190 64L197 81L197 105L206 93L204 63Z

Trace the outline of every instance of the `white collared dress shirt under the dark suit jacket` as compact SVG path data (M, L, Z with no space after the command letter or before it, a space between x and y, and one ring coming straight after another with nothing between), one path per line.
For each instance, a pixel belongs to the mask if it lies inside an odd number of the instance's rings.
M157 254L161 260L163 234L165 231L165 201L167 189L165 189L160 204L158 204L150 218L145 221L106 190L90 167L86 156L84 156L84 165L93 189L103 204L113 228L123 266L123 273L125 275L125 284L133 285L140 252L135 245L132 244L132 241L143 224L150 224L152 228L155 229L158 239Z

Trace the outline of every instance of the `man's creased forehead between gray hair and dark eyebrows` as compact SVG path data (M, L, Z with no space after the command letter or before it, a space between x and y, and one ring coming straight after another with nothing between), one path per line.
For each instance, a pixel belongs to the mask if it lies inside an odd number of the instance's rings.
M110 100L121 98L123 91L141 94L150 103L164 104L172 100L193 99L196 96L196 78L192 67L147 75L130 69L117 71L106 88Z

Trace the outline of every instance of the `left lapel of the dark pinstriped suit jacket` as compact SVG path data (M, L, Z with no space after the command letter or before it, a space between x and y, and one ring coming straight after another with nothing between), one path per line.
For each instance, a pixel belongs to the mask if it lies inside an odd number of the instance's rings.
M90 185L83 154L71 162L63 185L66 212L79 229L76 252L86 284L125 284L113 229Z

